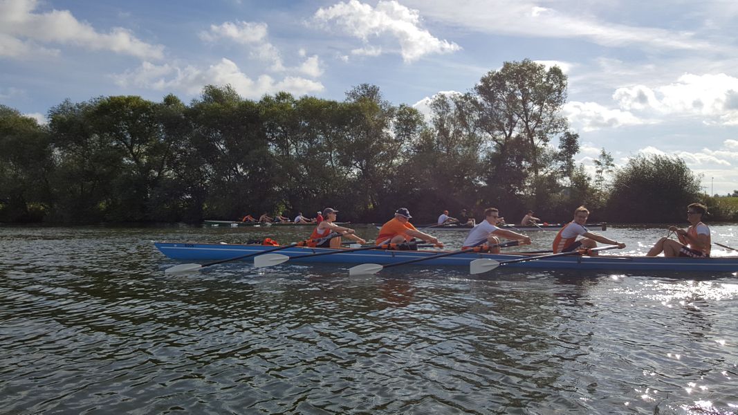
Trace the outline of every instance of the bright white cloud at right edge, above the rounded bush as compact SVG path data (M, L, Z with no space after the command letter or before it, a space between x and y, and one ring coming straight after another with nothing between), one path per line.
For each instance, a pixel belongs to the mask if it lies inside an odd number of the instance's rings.
M623 109L705 117L707 123L738 125L738 78L684 74L675 83L619 88L613 98Z

